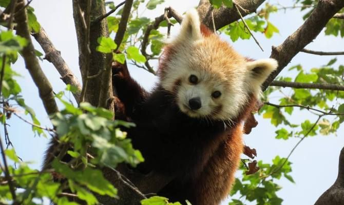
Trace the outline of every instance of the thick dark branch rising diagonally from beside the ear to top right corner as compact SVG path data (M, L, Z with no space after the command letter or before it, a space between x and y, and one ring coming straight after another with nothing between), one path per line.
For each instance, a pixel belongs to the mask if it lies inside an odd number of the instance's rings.
M275 79L291 59L320 33L332 16L344 7L342 0L320 0L307 20L278 47L273 47L271 56L278 61L278 68L265 80L262 90Z

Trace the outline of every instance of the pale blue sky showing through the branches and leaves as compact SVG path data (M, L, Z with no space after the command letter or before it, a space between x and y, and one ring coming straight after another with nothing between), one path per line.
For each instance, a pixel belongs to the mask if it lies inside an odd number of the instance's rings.
M114 4L118 3L120 1L114 1ZM276 3L276 1L270 1L270 3ZM283 6L292 6L293 3L294 1L283 1ZM153 11L141 10L140 12L143 16L154 18L161 15L167 6L171 6L179 11L179 13L183 13L197 5L198 1L168 0ZM46 30L56 49L61 51L62 57L81 81L71 1L33 0L31 6L35 9L37 20L39 20L42 27ZM278 14L272 14L270 20L279 29L280 33L275 34L270 39L266 39L262 34L255 33L264 52L259 49L252 38L250 40L238 40L234 43L227 36L222 36L222 38L230 42L242 55L255 59L266 58L270 56L271 46L280 45L288 35L302 25L302 14L299 10L286 10L285 12L280 11ZM173 27L172 34L178 33L178 29L178 25ZM342 51L342 45L342 39L340 37L324 37L323 32L321 32L306 48L319 51ZM37 50L44 53L37 43L34 43L34 46ZM320 57L299 53L293 58L288 67L302 64L304 68L311 69L320 65L326 65L332 58L333 56ZM343 56L338 56L337 59L335 67L344 64ZM44 60L41 62L41 66L50 80L53 90L55 92L64 90L66 86L53 65L47 60ZM22 94L26 100L26 104L35 110L37 118L39 118L44 126L51 127L37 89L25 69L23 60L18 59L13 69L23 76L17 78L17 81L22 86ZM129 71L146 89L151 89L157 80L152 74L136 67L130 67ZM285 69L282 74L286 74L287 72L290 71ZM295 73L288 74L295 75ZM288 89L283 91L286 93L290 92ZM277 99L280 96L276 95L270 100L278 103ZM339 103L342 104L344 102L341 101ZM21 113L21 116L29 119L24 113ZM290 116L290 120L294 122L300 122L304 119L315 121L316 117L307 111L294 111L292 116ZM270 120L263 119L259 116L257 120L259 122L258 127L254 128L250 135L244 136L245 145L257 149L257 160L271 162L276 155L286 157L298 139L293 138L286 141L275 139L275 131L277 128L271 125ZM33 136L31 126L23 123L23 121L16 117L9 119L8 124L10 125L8 128L10 139L18 156L23 158L24 161L32 161L32 167L40 169L49 139ZM277 182L282 186L282 189L277 192L278 196L284 199L282 204L313 204L332 185L337 177L339 152L344 146L344 136L341 134L343 133L342 127L339 128L337 136L319 135L305 138L294 151L290 157L290 161L293 163L293 172L291 175L296 183L291 183L284 179ZM3 131L1 131L0 136L4 137ZM227 201L228 199L223 204L226 204Z

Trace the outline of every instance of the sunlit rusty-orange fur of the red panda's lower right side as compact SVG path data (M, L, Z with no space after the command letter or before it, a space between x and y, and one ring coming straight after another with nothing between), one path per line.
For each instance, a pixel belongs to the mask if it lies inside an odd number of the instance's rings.
M239 125L209 159L196 181L193 204L217 205L230 193L242 149L242 127Z

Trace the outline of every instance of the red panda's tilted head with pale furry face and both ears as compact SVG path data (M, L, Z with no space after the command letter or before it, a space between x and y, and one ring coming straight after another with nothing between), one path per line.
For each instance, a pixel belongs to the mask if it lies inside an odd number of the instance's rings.
M201 33L196 10L186 13L180 34L165 47L159 75L190 117L233 120L275 70L274 59L246 61L216 34Z

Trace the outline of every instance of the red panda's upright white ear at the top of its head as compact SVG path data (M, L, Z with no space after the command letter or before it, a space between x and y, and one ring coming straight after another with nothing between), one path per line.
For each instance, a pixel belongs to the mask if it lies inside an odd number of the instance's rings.
M173 42L194 42L202 38L201 23L196 9L190 9L186 12L179 35Z

